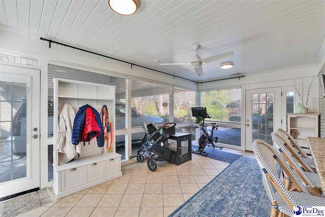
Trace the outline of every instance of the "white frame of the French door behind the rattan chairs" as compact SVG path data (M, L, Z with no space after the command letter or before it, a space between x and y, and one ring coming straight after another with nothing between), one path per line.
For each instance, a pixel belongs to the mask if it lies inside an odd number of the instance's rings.
M252 94L274 93L273 131L282 127L282 87L246 89L245 91L245 150L252 151ZM247 126L248 125L248 126Z

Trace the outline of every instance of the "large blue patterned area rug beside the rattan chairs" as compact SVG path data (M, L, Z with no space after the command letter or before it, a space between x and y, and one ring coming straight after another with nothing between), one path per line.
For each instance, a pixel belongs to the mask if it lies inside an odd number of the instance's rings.
M267 217L270 209L257 161L240 157L169 216Z

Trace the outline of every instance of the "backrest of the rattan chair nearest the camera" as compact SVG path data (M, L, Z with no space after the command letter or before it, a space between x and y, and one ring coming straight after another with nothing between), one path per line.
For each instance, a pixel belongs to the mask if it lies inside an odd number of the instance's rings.
M292 210L294 206L298 205L298 203L290 195L289 191L281 182L276 169L276 162L278 162L283 170L288 171L289 174L291 172L289 168L285 166L285 162L282 161L281 154L279 154L274 147L262 140L255 140L253 142L253 150L257 163L261 168L261 171L264 173L262 173L262 177L264 177L263 179L268 179L263 180L263 184L265 184L265 189L268 192L271 202L272 200L275 200L274 192L271 187L272 184L275 190L278 191L278 193ZM295 180L295 177L293 177L293 180ZM302 188L303 192L308 193L308 190L306 188Z

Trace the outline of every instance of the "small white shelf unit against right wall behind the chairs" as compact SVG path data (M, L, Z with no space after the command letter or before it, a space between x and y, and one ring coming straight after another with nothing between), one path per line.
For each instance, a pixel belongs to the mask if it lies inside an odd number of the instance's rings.
M319 136L319 113L287 113L288 133L295 132L296 142L301 147L307 147L307 137ZM310 153L309 150L306 150Z

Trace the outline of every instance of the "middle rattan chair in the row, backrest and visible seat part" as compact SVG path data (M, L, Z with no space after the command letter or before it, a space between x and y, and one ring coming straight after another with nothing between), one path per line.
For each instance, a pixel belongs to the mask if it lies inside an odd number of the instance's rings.
M272 133L273 144L276 144L279 148L284 159L290 164L293 170L297 173L297 175L302 179L302 181L309 188L310 193L319 197L322 197L321 184L318 179L318 174L313 170L312 172L304 171L299 162L296 160L294 156L291 155L289 151L286 140L278 133Z

